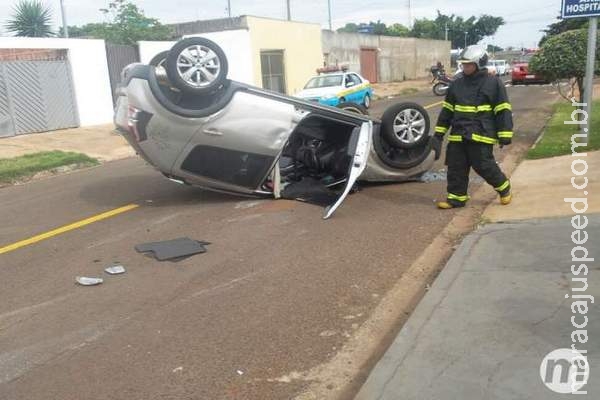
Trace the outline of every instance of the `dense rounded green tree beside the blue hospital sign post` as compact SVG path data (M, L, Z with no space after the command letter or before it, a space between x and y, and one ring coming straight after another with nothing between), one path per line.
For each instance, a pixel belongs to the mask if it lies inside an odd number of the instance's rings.
M572 79L579 89L579 101L583 103L586 55L587 31L570 30L549 37L531 58L529 68L551 81Z

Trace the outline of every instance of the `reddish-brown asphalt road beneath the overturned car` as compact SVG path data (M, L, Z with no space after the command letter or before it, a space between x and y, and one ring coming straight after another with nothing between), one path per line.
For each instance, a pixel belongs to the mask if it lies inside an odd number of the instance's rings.
M517 142L537 136L550 92L510 90ZM139 159L0 189L0 247L139 205L0 254L0 399L292 398L310 383L294 372L331 359L450 221L434 209L444 195L445 182L369 186L323 221L308 204L178 186ZM181 236L213 244L178 263L133 249ZM104 274L113 261L127 273Z

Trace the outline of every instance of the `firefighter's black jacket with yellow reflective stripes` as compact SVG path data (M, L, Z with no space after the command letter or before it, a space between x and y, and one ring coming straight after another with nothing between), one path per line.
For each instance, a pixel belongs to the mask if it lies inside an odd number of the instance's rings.
M443 136L450 128L450 142L510 142L512 106L502 81L482 69L471 76L462 74L452 82L435 132Z

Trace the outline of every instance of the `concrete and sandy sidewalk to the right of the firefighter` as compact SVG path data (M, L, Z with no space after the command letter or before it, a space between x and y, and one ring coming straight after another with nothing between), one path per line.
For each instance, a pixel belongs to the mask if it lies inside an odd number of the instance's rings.
M542 359L571 346L571 317L583 318L565 299L583 286L572 282L574 213L563 201L580 196L571 187L572 160L525 161L517 168L514 204L492 205L484 216L502 222L463 241L355 400L572 398L552 392L540 377ZM593 196L600 152L589 153L587 162ZM599 197L589 198L585 229L585 247L596 259ZM588 263L589 286L578 294L600 297L598 264ZM588 351L591 370L582 399L600 392L600 313L589 307L589 341L576 345Z

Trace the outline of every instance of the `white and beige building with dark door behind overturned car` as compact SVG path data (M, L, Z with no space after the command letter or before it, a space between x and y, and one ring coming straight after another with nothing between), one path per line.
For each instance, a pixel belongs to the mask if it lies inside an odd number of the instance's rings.
M173 26L178 37L201 35L223 47L229 77L293 95L323 65L321 26L241 16Z

